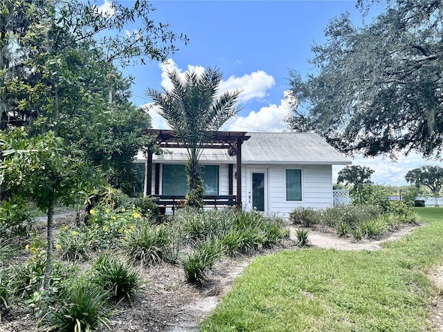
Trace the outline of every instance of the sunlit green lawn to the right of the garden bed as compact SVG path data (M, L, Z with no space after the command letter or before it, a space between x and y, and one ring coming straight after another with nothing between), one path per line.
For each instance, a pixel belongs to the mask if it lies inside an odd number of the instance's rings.
M383 250L255 259L201 331L433 331L426 273L443 261L443 209L415 212L428 225Z

